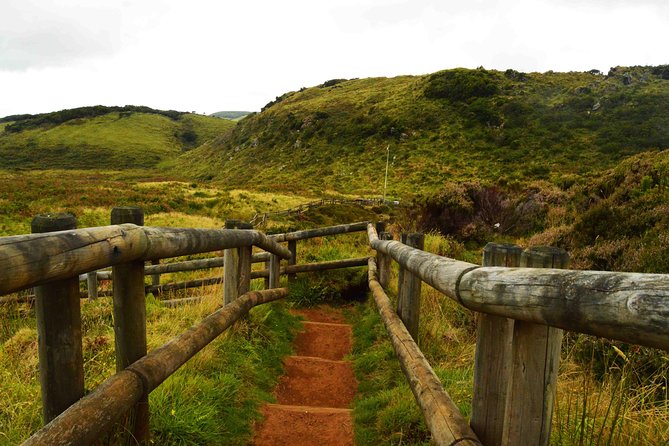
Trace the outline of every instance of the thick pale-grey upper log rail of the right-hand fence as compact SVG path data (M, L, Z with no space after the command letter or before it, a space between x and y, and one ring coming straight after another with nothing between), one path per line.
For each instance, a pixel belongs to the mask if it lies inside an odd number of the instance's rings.
M380 240L391 256L464 307L669 351L669 276L665 274L481 267Z

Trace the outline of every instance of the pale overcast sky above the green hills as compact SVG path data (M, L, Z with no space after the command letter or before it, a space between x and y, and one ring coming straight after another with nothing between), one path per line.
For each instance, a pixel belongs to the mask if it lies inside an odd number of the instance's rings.
M257 111L333 78L669 64L667 0L0 0L0 117Z

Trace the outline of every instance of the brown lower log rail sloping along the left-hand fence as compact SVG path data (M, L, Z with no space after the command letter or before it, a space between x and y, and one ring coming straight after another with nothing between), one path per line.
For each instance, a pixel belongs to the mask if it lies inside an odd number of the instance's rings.
M211 314L188 331L117 373L36 432L25 445L92 444L109 431L142 395L151 392L186 361L263 303L284 298L285 288L254 291Z

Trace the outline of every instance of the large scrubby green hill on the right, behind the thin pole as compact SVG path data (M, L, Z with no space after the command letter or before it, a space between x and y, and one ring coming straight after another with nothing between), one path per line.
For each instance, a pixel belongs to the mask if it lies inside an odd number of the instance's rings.
M669 147L669 68L520 73L453 69L336 79L286 93L179 169L240 187L360 194L444 182L588 174Z

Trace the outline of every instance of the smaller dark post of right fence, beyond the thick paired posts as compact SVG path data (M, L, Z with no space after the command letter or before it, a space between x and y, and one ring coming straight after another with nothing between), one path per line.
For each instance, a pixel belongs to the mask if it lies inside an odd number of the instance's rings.
M417 232L406 234L406 237L403 235L403 239L403 242L412 248L422 250L425 246L425 236ZM417 276L404 271L397 286L397 314L416 343L418 343L421 283Z

